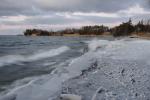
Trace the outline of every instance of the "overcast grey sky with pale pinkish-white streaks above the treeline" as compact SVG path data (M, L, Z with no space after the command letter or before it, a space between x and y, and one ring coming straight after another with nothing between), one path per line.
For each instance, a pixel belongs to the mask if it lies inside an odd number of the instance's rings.
M0 0L0 35L150 19L150 0Z

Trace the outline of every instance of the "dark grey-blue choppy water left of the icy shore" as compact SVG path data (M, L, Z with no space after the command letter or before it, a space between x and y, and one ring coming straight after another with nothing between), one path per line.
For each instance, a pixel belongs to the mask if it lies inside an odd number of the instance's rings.
M81 56L85 41L93 38L0 36L0 91L16 80L49 74L59 64Z

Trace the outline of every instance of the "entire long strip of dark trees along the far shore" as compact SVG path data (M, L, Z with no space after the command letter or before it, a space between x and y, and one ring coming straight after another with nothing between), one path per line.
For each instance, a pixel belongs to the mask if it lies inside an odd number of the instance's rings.
M132 20L123 22L122 24L109 28L104 25L83 26L79 29L67 28L59 31L47 31L42 29L26 29L25 36L79 36L79 35L113 35L113 36L130 36L135 35L149 35L150 34L150 20L139 21L133 24Z

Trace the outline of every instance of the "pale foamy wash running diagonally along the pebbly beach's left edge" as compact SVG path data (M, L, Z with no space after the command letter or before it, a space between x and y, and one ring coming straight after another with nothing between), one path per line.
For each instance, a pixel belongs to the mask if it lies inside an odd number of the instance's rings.
M0 100L53 100L60 94L62 83L81 75L83 70L91 67L96 60L94 57L95 54L88 52L71 59L68 67L61 66L49 75L39 76L27 84L18 85L4 96L0 96Z

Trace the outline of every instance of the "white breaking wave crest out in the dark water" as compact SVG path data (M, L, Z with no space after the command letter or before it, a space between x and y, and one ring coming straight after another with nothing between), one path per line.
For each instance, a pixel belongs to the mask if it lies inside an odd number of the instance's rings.
M47 51L42 52L36 52L32 54L31 56L25 56L25 55L7 55L0 58L0 67L10 64L15 64L19 62L31 62L36 61L40 59L45 59L49 57L54 57L57 55L60 55L66 51L68 51L70 48L67 46L62 46L57 49L50 49Z

